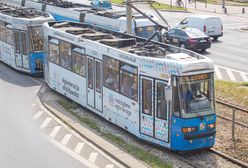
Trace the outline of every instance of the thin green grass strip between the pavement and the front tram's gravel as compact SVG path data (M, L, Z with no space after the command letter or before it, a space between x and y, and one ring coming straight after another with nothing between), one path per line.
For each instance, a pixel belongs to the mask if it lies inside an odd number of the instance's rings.
M105 137L109 141L120 146L122 149L124 149L128 153L132 154L133 156L135 156L139 160L142 160L143 162L145 162L149 166L154 167L154 168L172 168L172 165L170 163L167 163L167 162L161 160L159 157L157 157L153 154L150 154L149 152L143 150L140 147L137 147L137 146L134 146L134 145L127 143L121 137L119 137L117 135L113 135L109 132L101 131L101 129L98 126L98 124L96 123L96 121L94 121L88 117L81 116L78 113L73 111L79 107L78 105L75 106L75 103L73 101L71 101L69 99L65 99L65 100L63 99L63 100L59 100L58 103L63 108L65 108L68 112L73 114L78 120L80 120L81 123L89 126L91 129L97 131L97 133L99 133L101 136Z

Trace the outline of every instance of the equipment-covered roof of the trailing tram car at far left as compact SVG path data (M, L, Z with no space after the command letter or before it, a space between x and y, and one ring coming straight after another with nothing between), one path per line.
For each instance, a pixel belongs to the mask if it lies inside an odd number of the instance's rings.
M45 12L40 12L33 8L24 8L21 6L10 5L6 3L0 3L0 13L16 18L33 19L37 17L50 17Z

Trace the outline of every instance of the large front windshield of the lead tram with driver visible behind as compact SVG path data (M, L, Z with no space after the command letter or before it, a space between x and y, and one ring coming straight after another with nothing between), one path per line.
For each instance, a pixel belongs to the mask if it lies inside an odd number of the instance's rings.
M184 118L209 115L214 113L213 74L200 74L178 77L174 89L174 104ZM177 103L178 102L178 103Z

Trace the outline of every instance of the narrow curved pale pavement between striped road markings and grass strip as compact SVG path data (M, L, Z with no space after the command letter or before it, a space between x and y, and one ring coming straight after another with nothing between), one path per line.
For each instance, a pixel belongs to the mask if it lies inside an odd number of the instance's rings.
M109 141L100 137L95 132L84 127L75 116L67 112L60 104L56 102L56 97L58 96L53 95L48 86L44 84L42 85L39 91L39 98L42 105L62 122L71 127L80 136L87 139L89 142L97 146L97 148L127 168L149 168L149 166L145 165L145 163L135 159L133 156L111 144Z

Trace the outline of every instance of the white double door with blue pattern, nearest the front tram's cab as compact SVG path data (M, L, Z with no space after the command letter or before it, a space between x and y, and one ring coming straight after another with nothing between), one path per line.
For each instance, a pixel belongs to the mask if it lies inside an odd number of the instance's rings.
M166 83L148 77L141 77L140 81L140 132L167 142L169 128Z

